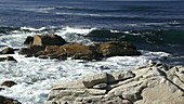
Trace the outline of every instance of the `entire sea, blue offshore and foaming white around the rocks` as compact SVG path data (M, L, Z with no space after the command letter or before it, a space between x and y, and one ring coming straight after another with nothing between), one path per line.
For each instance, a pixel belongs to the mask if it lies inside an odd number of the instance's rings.
M184 65L183 5L183 1L0 0L0 50L26 47L27 36L55 34L83 44L130 41L143 54L88 62L24 57L16 52L10 55L17 63L0 62L0 83L14 80L18 84L0 95L23 104L44 104L56 82L133 69L152 61Z

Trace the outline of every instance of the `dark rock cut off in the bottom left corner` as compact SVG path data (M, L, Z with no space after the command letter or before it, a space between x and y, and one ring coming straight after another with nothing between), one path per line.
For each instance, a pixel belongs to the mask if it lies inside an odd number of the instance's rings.
M22 104L17 100L0 95L0 104Z

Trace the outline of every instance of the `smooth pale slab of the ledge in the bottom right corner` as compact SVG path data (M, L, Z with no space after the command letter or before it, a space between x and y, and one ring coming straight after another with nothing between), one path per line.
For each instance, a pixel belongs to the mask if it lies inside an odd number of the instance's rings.
M146 88L143 93L143 102L135 104L184 104L183 91L173 87L172 83L166 81L154 88Z

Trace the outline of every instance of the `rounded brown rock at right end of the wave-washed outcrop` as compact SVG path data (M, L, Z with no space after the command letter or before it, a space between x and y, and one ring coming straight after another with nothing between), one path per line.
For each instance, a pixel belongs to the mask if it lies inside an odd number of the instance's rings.
M141 55L135 46L124 41L104 42L100 46L98 51L103 56Z

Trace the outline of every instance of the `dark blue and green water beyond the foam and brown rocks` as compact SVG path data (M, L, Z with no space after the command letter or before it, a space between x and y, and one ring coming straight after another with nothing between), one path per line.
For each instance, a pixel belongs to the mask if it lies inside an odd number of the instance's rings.
M93 41L124 40L141 50L184 55L184 1L0 0L0 34L23 26L95 27L87 36Z

